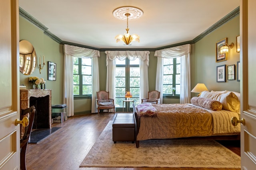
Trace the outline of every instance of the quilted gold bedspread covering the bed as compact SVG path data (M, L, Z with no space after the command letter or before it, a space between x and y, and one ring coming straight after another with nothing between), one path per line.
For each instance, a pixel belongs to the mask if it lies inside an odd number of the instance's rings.
M228 115L226 112L220 111L222 115L219 116L218 111L210 112L192 104L152 104L152 106L158 111L157 117L140 117L138 141L219 135L218 119L222 116L225 117L225 114ZM235 112L232 114L236 115ZM219 118L216 118L216 115ZM220 124L223 124L223 121ZM223 131L225 126L221 127L223 134L229 133ZM228 131L239 134L240 127L236 127L235 130L229 128Z

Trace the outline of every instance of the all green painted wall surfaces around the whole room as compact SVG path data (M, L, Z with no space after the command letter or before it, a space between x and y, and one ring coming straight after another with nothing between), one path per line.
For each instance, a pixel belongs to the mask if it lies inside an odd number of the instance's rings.
M204 83L208 90L230 90L240 92L240 82L236 80L226 80L223 83L216 82L216 66L226 64L232 65L239 61L240 53L236 53L236 36L239 35L239 16L228 21L220 28L208 34L200 41L192 44L191 49L191 88L197 83ZM216 42L221 39L228 38L228 43L235 44L233 49L228 53L228 60L216 63ZM57 64L56 81L47 80L47 65L44 66L42 73L39 69L30 76L38 76L46 79L46 86L52 89L52 104L62 103L63 91L63 45L60 45L44 35L43 31L20 17L20 40L26 39L34 45L38 57L45 56L45 60ZM157 57L154 57L154 51L150 51L148 66L148 86L149 91L155 90L156 87L156 65ZM38 58L39 60L39 58ZM99 78L100 90L106 90L106 54L100 52L99 62ZM20 73L20 84L25 84L30 88L28 77ZM191 93L191 96L197 96ZM178 99L164 99L164 103L179 103ZM75 115L90 113L91 99L74 100Z

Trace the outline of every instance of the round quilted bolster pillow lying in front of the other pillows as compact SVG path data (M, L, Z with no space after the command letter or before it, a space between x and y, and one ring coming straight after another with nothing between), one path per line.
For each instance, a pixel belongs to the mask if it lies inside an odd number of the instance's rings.
M193 97L191 99L191 104L213 111L219 111L222 109L222 104L220 102L206 98Z

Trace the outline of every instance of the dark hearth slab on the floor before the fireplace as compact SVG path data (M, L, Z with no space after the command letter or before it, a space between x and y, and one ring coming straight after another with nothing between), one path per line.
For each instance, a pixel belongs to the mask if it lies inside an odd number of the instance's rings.
M60 127L52 127L51 129L36 129L31 132L28 143L39 143L52 133L56 132L58 129L60 129Z

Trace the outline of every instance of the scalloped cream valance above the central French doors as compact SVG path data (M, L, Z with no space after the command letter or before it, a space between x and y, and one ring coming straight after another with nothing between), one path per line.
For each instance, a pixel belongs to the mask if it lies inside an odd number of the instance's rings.
M136 58L139 58L140 61L146 61L148 66L149 64L149 51L105 51L106 55L106 65L108 66L108 60L115 60L118 58L119 60L123 61L126 57L133 61Z

